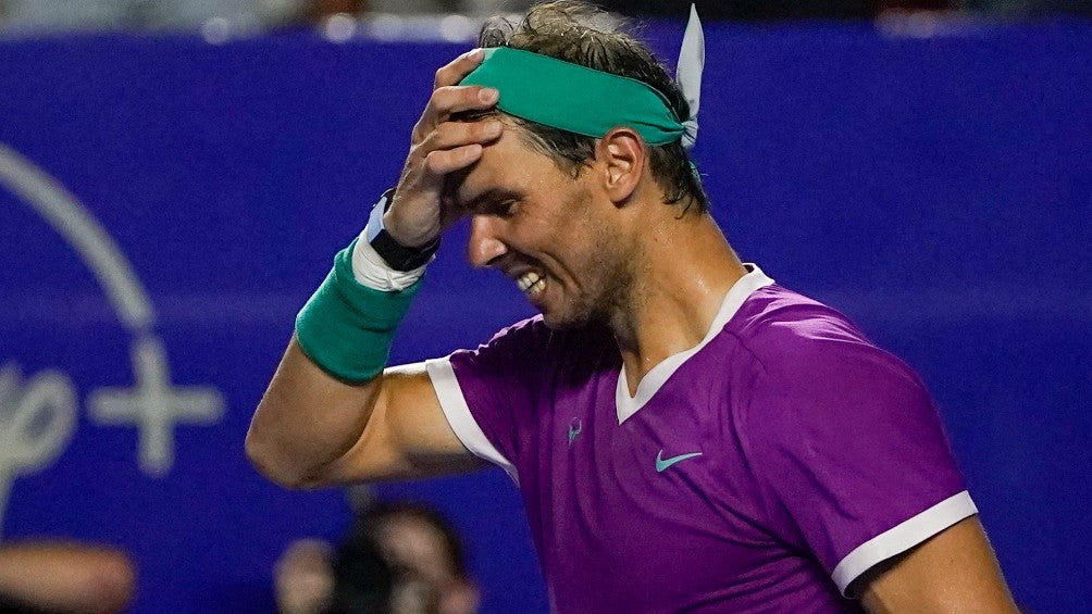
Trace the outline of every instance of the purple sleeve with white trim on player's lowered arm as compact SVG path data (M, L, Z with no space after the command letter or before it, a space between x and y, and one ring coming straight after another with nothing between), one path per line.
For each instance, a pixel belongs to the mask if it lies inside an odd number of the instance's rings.
M772 526L851 597L860 574L977 510L909 366L858 340L794 345L755 378L756 471Z

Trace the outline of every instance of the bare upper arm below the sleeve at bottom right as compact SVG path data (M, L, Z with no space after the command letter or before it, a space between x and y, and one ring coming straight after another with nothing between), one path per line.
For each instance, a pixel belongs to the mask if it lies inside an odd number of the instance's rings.
M881 563L851 592L871 614L1019 612L977 516Z

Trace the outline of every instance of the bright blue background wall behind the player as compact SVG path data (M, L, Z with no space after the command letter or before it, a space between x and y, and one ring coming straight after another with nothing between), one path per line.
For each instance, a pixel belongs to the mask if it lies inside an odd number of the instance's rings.
M646 34L670 56L681 26ZM697 158L729 240L921 371L1018 599L1088 611L1092 25L713 25L708 37ZM336 537L348 507L260 479L247 424L296 309L397 177L432 72L464 49L309 34L0 43L0 424L33 409L49 372L78 420L33 467L4 440L4 539L123 545L141 565L135 612L271 607L278 552ZM105 228L154 320L119 315L36 208L48 194L13 186L27 171L12 159ZM397 361L530 313L510 282L465 265L455 234ZM174 461L158 473L141 469L141 430L92 409L104 388L149 381L131 351L150 339L171 386L212 408L211 423L169 429ZM48 416L26 436L60 429ZM546 609L499 470L379 492L453 519L485 612Z

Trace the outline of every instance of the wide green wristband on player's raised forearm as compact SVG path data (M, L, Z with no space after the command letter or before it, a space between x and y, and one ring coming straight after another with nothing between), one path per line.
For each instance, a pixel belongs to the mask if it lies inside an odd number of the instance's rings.
M391 340L420 279L404 290L384 292L353 276L354 239L334 256L334 267L296 316L296 340L327 373L351 383L378 375L391 352Z

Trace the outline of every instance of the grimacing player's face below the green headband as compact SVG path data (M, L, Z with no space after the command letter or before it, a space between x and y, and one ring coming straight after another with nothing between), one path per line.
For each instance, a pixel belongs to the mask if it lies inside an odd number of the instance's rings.
M455 205L471 218L467 257L511 278L554 328L605 320L629 279L617 209L596 190L594 168L573 179L519 130L506 122L458 185Z

